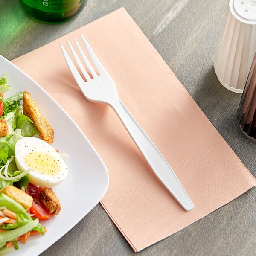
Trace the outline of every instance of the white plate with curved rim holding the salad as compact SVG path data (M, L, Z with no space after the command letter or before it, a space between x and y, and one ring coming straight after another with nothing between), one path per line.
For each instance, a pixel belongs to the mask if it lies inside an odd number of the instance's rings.
M43 72L43 70L42 70ZM30 237L26 244L19 242L19 250L9 256L39 255L74 227L103 198L108 189L108 171L101 158L81 129L58 103L22 70L0 55L0 77L6 79L12 90L5 97L18 91L29 91L54 129L53 147L67 153L65 162L68 176L53 188L61 203L61 212L48 221L44 236Z

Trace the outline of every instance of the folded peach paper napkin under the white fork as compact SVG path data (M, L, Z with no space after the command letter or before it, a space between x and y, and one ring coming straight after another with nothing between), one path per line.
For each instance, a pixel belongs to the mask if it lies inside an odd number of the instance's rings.
M185 212L157 180L116 113L107 105L84 99L60 48L60 43L67 46L73 37L80 40L79 33L116 82L122 102L175 170L195 204L192 211ZM125 9L13 63L70 114L102 157L110 184L101 204L135 251L183 229L256 185Z

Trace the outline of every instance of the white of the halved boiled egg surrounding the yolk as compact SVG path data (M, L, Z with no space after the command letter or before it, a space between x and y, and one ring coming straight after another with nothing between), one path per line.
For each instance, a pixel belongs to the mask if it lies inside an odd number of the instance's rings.
M27 163L25 160L25 158L29 158L29 154L34 154L33 152L41 152L41 155L44 158L42 160L44 160L44 162L47 162L46 156L49 156L49 159L54 159L54 161L58 163L58 168L60 170L58 174L52 175L50 172L41 173L33 170L31 164ZM24 137L18 140L15 144L14 154L17 168L20 171L25 172L27 169L31 169L29 172L29 181L35 186L50 188L57 186L67 177L67 165L64 160L60 157L55 148L44 140L36 137ZM42 167L42 171L44 171L44 167Z

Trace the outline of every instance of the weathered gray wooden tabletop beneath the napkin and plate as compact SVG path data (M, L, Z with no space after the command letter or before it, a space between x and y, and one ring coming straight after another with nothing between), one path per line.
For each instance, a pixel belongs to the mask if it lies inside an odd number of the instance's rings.
M19 0L0 0L0 54L30 52L125 7L195 102L256 177L256 144L239 128L241 94L218 81L213 61L228 0L89 0L76 19L49 25L26 16ZM174 235L134 253L98 204L41 256L256 255L256 188Z

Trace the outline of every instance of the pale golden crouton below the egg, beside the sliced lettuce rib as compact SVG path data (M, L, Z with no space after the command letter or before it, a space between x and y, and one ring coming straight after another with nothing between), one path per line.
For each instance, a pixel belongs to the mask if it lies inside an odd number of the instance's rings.
M16 202L20 203L26 211L32 206L33 198L32 196L26 194L21 189L18 189L15 186L6 186L0 190L0 193L8 195L10 198L14 199Z

